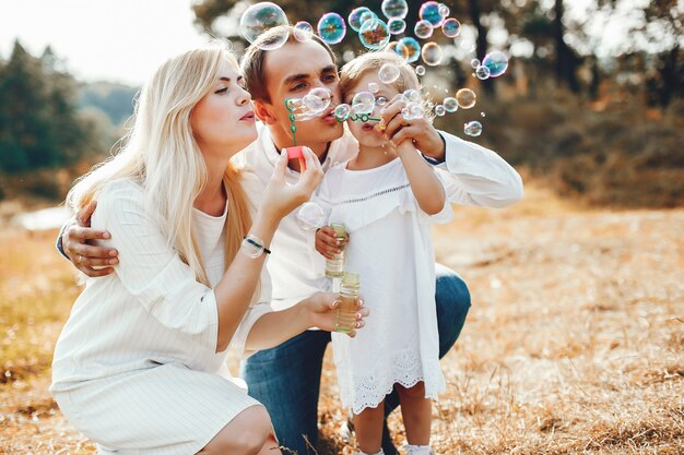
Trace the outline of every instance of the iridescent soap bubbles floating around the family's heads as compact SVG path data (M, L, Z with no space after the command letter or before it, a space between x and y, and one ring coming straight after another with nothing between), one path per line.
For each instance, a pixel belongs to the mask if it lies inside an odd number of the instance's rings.
M444 50L436 43L426 43L423 46L416 38L403 37L397 41L391 41L392 35L399 35L405 32L405 17L409 13L409 4L406 0L382 0L380 7L382 14L387 19L384 21L366 7L355 8L347 16L345 23L344 17L334 12L323 14L318 21L316 31L306 21L297 22L294 26L293 35L299 41L310 40L315 32L318 32L320 38L330 44L335 45L342 41L346 35L346 24L356 33L364 47L372 50L386 49L397 52L408 63L414 63L422 58L423 63L428 67L436 67L444 60ZM456 38L461 33L461 23L449 17L449 8L437 1L426 1L421 5L418 11L418 21L413 29L418 39L427 39L433 36L436 28L448 38ZM266 31L279 26L287 25L287 17L283 10L272 2L260 2L249 7L240 17L240 32L243 36L250 43L255 43L257 37ZM272 50L283 46L288 38L288 32L272 35L270 39L261 43L259 47L263 50ZM493 51L484 56L482 60L473 59L471 61L473 74L480 80L490 77L498 77L508 69L508 58L502 51ZM420 76L425 75L425 67L417 64L415 73ZM380 82L390 84L397 81L400 70L392 63L387 63L380 68L378 77ZM377 84L369 84L368 92L362 92L354 97L350 105L339 105L334 115L338 120L343 121L354 115L368 115L377 105L374 94L378 92ZM405 107L402 116L405 119L422 118L424 115L424 106L420 99L420 94L412 94L408 91L403 96L405 98ZM415 92L415 91L413 91ZM411 99L411 97L417 99ZM320 116L327 110L331 103L331 94L325 88L315 88L303 98L288 99L288 108L296 120L308 120L316 116ZM470 109L476 103L476 95L470 88L461 88L456 93L455 97L447 97L439 105L429 106L436 116L441 117L448 112L455 112L457 109ZM353 118L353 117L352 117ZM468 135L477 136L482 133L482 124L477 121L465 123L464 132ZM304 207L303 207L304 208ZM302 211L300 211L302 212Z

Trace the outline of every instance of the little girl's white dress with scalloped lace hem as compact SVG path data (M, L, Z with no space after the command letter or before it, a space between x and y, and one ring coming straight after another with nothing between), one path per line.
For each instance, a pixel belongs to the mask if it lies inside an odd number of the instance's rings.
M333 333L341 399L359 414L377 407L394 384L425 383L425 396L445 390L439 367L435 306L435 256L431 224L452 218L451 204L434 216L423 212L399 158L368 170L346 164L328 170L319 201L330 223L350 235L345 270L361 276L370 310L355 338Z

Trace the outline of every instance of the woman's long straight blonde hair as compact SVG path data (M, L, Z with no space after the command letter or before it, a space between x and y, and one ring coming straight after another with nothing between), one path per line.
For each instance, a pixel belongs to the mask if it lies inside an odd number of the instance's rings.
M193 107L214 87L221 65L235 57L213 45L167 60L145 83L135 101L133 127L119 153L95 166L67 195L80 209L97 197L103 187L130 178L144 189L145 208L158 220L168 244L178 251L198 282L209 286L192 225L192 204L207 184L207 165L192 135ZM229 164L223 183L228 199L225 221L225 267L237 253L251 226L240 172Z

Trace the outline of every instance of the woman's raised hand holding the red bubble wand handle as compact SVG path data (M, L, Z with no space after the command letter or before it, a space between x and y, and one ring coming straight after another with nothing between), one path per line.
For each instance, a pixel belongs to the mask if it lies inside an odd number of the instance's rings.
M285 181L287 154L282 151L275 169L273 169L273 176L263 191L260 212L273 219L282 219L308 201L323 178L323 170L314 152L308 147L304 147L302 152L306 161L306 170L302 172L299 181L295 184Z

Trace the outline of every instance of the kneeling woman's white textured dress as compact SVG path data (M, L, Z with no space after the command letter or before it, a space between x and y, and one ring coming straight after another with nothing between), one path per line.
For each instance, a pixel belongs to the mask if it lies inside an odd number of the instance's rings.
M212 287L224 273L226 213L192 214ZM166 244L133 180L103 189L92 227L111 234L107 243L120 263L116 273L87 279L57 343L50 390L101 453L194 454L259 405L231 378L225 352L215 352L214 292ZM239 351L252 324L271 311L266 272L261 286L233 337Z

